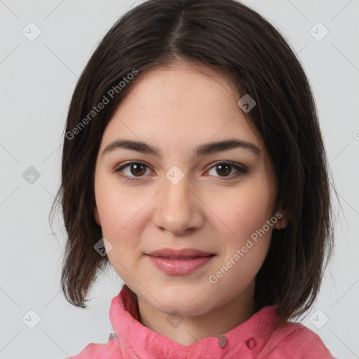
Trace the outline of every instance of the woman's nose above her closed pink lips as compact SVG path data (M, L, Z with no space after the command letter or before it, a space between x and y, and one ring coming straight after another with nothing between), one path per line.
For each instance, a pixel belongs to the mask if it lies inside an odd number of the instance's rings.
M168 178L163 178L163 189L154 198L154 224L177 235L200 228L203 202L196 189L190 188L188 176L177 183Z

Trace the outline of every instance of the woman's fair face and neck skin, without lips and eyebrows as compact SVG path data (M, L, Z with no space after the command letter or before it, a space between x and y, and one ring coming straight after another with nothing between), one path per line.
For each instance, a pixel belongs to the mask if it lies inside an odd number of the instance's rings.
M95 168L94 217L111 243L105 242L111 266L137 294L141 323L188 346L218 337L255 313L255 276L272 229L283 228L285 216L217 283L210 283L210 275L278 211L276 178L264 143L238 107L241 96L212 69L177 62L136 81L104 130ZM255 144L260 155L243 148L192 155L199 144L233 137ZM109 143L125 138L159 147L163 158L128 149L102 156ZM126 161L147 167L140 175L131 165L114 172ZM248 172L235 177L238 170L229 166L223 175L216 161L231 161ZM177 184L165 176L174 165L184 175ZM168 247L216 256L194 273L173 276L144 255ZM168 320L172 311L182 316L176 327Z

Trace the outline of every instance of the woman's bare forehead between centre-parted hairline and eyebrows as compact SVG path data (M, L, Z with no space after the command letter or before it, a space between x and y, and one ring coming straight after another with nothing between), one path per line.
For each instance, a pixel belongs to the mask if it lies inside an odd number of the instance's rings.
M209 67L179 62L151 69L134 81L111 119L121 118L141 132L196 131L208 140L235 128L255 135L238 107L236 88Z

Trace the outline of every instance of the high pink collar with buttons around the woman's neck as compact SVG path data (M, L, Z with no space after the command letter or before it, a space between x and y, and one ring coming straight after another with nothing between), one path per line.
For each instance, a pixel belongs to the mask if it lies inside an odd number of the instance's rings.
M222 337L207 337L183 346L145 327L127 285L112 299L109 318L123 358L255 358L276 328L273 306L265 306ZM228 354L231 352L230 354Z

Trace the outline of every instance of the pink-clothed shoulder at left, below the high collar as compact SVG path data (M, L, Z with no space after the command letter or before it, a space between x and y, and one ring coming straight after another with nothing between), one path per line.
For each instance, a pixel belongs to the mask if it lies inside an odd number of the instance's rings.
M120 344L117 339L111 339L106 344L88 344L81 353L66 359L122 359Z

